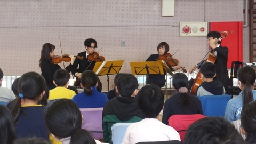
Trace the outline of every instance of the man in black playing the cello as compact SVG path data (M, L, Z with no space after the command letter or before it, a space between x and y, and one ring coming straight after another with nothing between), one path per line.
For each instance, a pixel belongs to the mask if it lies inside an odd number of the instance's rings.
M228 70L227 70L227 62L228 62L228 47L221 46L221 41L219 41L219 38L221 37L221 34L218 31L210 31L207 34L207 43L212 48L212 53L216 56L214 64L216 67L216 77L219 82L223 84L223 86L226 88L229 86L229 77L228 77ZM195 65L194 67L191 67L189 70L189 73L193 73L193 71L198 68L200 69L201 66ZM190 80L188 90L190 91L191 85L193 84L193 81Z

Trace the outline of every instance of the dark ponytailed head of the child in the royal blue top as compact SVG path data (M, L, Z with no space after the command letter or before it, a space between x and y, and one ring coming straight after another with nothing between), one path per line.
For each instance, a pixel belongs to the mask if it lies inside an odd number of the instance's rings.
M82 73L81 84L84 87L84 92L87 95L92 95L92 86L96 86L98 82L98 76L91 70L86 70Z

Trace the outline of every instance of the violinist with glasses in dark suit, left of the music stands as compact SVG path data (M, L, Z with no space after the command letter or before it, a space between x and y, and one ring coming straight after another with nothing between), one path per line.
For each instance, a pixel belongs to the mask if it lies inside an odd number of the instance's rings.
M84 41L84 46L86 51L78 53L77 55L80 57L84 57L82 60L76 58L73 64L73 70L72 73L74 76L76 76L76 82L74 83L74 86L80 86L80 78L82 76L83 71L85 70L93 70L95 61L89 61L88 56L90 54L94 53L95 48L97 48L97 42L95 39L88 38ZM77 68L79 65L79 68ZM102 84L98 78L98 87L97 91L101 92Z

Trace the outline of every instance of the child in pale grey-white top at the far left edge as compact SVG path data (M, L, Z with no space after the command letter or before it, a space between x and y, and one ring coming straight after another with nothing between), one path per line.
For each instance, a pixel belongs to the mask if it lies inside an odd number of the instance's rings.
M0 102L8 103L14 100L16 97L11 90L5 87L2 87L3 77L4 77L4 73L0 68Z

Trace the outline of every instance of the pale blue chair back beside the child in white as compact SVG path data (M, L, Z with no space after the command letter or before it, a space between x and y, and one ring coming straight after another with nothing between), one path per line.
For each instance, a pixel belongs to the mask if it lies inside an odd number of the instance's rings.
M132 123L116 123L111 127L113 144L121 144L124 139L124 134L129 125Z

